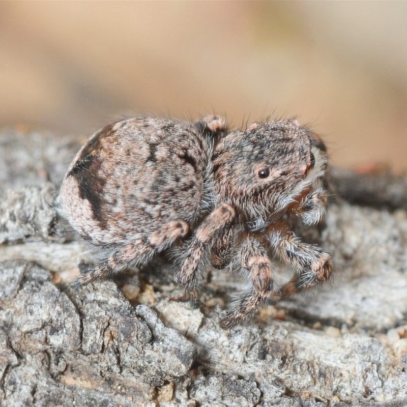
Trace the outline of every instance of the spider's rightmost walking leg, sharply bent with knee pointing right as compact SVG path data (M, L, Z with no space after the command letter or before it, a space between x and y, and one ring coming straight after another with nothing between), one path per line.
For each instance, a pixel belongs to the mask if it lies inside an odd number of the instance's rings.
M287 222L267 228L271 246L285 264L292 266L296 274L280 290L281 298L292 296L304 289L327 281L332 273L330 255L315 245L303 243Z

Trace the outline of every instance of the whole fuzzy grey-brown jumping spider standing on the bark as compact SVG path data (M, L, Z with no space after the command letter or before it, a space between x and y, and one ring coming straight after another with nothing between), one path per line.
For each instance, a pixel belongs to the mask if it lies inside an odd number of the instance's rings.
M234 263L249 273L251 287L222 319L232 326L267 300L329 278L329 254L301 242L288 223L293 215L305 224L323 217L326 168L324 143L296 120L235 131L215 116L194 125L144 117L106 126L75 157L59 197L80 235L110 253L77 284L177 247L175 281L192 300L202 265ZM296 271L281 287L270 249Z

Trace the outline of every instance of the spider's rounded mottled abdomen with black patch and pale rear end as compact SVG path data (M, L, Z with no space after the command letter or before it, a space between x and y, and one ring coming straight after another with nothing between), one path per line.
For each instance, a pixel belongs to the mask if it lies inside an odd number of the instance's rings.
M83 238L104 246L141 239L163 220L192 222L204 194L207 144L193 126L169 119L106 126L69 168L62 210Z

